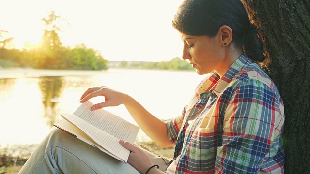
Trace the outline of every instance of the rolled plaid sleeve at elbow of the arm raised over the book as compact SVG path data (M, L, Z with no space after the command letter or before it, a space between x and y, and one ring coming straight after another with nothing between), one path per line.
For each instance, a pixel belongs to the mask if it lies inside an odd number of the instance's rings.
M170 121L166 122L167 131L168 131L168 139L171 143L176 143L178 138L179 131L181 129L184 116L186 113L187 105L184 107L182 114L175 118L172 118Z

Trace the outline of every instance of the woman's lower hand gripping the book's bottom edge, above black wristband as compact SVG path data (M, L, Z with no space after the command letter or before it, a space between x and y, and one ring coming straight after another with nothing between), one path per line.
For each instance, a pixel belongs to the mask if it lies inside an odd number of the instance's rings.
M141 174L144 174L151 166L153 166L150 157L143 152L141 148L124 140L120 140L120 144L130 151L128 163Z

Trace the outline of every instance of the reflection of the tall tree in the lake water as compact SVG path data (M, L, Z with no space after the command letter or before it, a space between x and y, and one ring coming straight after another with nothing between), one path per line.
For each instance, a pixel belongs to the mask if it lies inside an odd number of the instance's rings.
M41 77L38 86L42 92L43 116L47 120L47 126L52 127L60 114L60 96L63 91L62 77Z

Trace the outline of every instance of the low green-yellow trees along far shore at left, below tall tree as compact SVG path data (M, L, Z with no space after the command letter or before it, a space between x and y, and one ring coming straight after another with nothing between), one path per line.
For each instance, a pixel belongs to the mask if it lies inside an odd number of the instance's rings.
M58 51L44 49L18 50L0 48L0 66L36 69L105 70L107 63L98 51L80 44Z

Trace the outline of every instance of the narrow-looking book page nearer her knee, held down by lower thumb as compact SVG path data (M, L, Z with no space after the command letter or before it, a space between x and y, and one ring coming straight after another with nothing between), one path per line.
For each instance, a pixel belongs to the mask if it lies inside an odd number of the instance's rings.
M96 143L98 143L100 146L107 149L109 152L113 153L117 157L123 160L128 157L130 151L124 148L119 143L119 139L109 135L107 132L99 130L95 126L89 124L88 122L73 114L64 113L61 116L70 123L76 125L81 131L86 133Z

